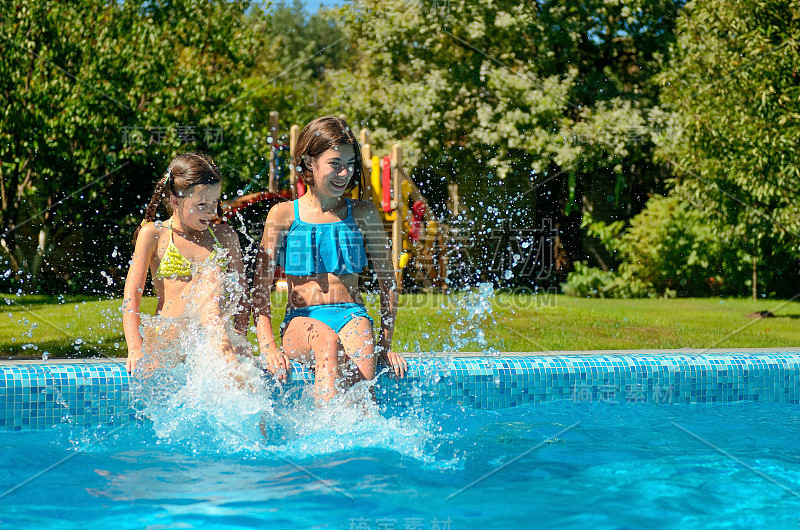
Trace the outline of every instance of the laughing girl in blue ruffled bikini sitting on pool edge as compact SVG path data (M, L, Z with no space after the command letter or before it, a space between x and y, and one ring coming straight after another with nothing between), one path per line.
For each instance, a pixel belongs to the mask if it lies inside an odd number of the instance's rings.
M351 200L345 192L361 187L361 149L347 123L317 118L300 133L294 164L308 186L293 202L267 215L254 279L253 309L266 367L285 380L294 359L315 369L315 392L327 401L341 389L373 379L378 358L398 377L405 359L392 351L397 285L391 247L377 208ZM372 258L381 293L380 335L358 290L358 275ZM275 341L270 292L277 266L288 283L282 347Z

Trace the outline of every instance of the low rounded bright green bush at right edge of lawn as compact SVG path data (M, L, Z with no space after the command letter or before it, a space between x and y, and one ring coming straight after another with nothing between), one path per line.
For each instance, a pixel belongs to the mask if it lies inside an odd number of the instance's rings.
M677 195L652 197L629 224L585 219L587 234L599 239L619 266L614 271L576 266L564 284L574 296L719 296L747 295L752 288L753 256L741 245L719 238L720 229ZM762 290L788 294L796 265L775 253L776 269L761 274Z

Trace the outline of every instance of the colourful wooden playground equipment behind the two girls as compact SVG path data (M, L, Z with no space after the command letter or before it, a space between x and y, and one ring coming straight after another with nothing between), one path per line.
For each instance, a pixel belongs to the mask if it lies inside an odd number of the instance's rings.
M272 137L277 137L277 113L270 113ZM293 200L305 193L305 185L298 178L291 161L294 159L300 127L293 125L289 132L289 153L285 144L273 142L269 162L240 197L224 205L223 218L230 220L237 214L245 219L249 234L260 234L267 212L277 202ZM431 212L425 197L403 170L402 150L399 144L392 148L391 155L372 155L369 133L361 131L361 153L364 166L364 199L378 207L384 229L392 241L392 263L397 276L398 289L423 290L447 289L447 251L445 247L447 226ZM283 155L283 160L280 160ZM280 164L279 162L288 162ZM281 171L288 167L289 189L279 190L285 183ZM247 193L266 169L269 169L267 191ZM356 190L353 190L356 198Z

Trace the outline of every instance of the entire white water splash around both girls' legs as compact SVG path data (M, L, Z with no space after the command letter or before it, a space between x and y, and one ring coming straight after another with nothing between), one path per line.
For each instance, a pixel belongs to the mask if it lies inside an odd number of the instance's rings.
M237 304L236 296L219 293L236 289L235 274L217 273L217 280L192 287L193 302L183 315L142 316L146 357L134 371L131 391L158 443L193 453L292 459L371 448L436 465L432 417L415 409L387 415L373 398L374 381L321 404L311 387L279 395L272 378L246 353L231 359L226 349L249 347L229 324L221 324L230 321ZM203 314L216 307L219 318Z

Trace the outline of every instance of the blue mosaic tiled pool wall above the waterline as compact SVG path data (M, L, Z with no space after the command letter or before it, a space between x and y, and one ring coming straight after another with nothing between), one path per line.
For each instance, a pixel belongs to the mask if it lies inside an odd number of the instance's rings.
M800 348L406 355L408 377L382 376L379 399L477 408L557 400L800 403ZM287 386L312 382L295 365ZM130 398L122 359L0 361L0 431L130 421Z

